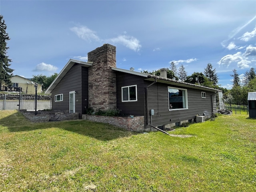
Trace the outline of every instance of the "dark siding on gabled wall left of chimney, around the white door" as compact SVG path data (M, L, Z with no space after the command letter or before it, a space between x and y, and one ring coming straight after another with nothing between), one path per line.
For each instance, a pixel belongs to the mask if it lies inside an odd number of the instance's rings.
M77 91L75 95L76 112L79 117L88 108L88 68L74 64L52 91L52 110L69 110L69 92ZM54 95L63 94L62 102L55 102Z

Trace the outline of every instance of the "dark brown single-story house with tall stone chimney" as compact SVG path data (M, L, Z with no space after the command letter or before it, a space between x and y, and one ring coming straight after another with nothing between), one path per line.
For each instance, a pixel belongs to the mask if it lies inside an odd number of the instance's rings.
M88 53L88 62L70 59L46 93L52 93L52 110L118 109L124 116L144 116L148 124L162 128L210 118L216 113L220 90L161 76L116 68L116 47L104 44ZM221 92L221 91L220 91Z

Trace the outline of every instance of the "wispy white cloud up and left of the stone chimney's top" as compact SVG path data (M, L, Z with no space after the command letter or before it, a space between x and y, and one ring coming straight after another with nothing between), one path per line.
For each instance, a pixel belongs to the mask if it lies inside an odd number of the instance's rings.
M86 26L72 27L70 28L79 38L91 42L92 40L100 41L100 38L96 35L96 32L90 30Z

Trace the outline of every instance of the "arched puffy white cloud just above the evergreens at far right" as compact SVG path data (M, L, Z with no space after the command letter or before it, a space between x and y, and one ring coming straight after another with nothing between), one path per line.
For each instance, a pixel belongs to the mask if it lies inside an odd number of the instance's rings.
M248 64L251 63L250 61L246 60L241 52L237 52L234 55L228 54L222 57L218 64L219 66L228 67L232 62L237 62L237 66L242 69L249 68L250 66Z

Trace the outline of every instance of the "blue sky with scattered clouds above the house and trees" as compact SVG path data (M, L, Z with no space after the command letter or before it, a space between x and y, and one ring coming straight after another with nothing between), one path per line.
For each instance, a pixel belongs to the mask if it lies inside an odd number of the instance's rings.
M116 66L135 71L184 65L188 75L211 63L224 88L232 70L256 68L256 1L0 0L13 74L59 73L70 58L104 43Z

